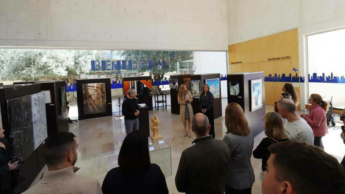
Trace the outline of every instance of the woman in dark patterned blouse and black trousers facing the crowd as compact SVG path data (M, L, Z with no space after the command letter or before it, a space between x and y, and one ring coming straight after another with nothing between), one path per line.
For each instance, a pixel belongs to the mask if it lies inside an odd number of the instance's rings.
M215 122L214 122L214 113L213 113L213 103L214 96L210 92L210 87L207 84L203 85L203 92L200 95L199 99L199 108L203 114L205 114L210 122L211 129L209 135L212 135L215 138Z

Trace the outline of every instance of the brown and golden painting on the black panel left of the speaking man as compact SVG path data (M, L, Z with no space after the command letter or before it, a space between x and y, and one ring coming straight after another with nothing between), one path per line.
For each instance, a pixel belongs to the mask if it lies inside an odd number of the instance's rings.
M105 83L83 84L83 107L85 115L107 112Z

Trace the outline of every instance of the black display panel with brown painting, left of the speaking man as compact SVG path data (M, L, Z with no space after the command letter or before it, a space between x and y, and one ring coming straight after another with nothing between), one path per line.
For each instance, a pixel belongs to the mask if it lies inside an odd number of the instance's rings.
M77 79L76 83L79 120L112 115L109 78Z

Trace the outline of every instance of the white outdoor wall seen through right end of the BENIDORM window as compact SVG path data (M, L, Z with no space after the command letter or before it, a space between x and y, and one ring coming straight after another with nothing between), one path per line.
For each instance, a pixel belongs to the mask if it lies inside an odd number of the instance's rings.
M193 52L194 74L227 74L226 52ZM203 85L203 83L201 84ZM220 81L221 97L228 97L225 81Z

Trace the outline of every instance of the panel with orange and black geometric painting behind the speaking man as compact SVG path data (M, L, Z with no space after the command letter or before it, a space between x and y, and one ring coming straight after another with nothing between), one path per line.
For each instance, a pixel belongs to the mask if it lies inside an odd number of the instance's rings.
M122 78L124 83L122 94L124 98L127 98L127 91L133 88L137 92L138 104L146 104L149 110L153 110L152 107L152 80L151 76L135 76Z

